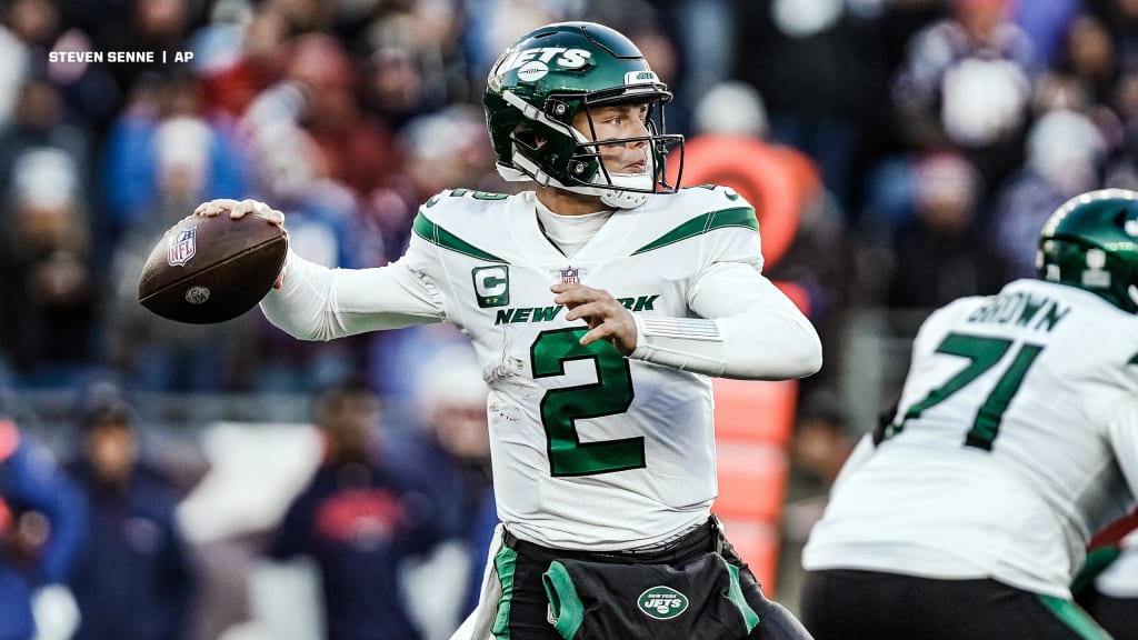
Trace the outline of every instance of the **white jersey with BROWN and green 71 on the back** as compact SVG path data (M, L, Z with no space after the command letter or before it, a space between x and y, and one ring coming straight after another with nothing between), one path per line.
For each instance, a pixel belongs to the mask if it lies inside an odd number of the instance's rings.
M888 437L848 463L807 569L992 577L1070 597L1138 489L1138 318L1019 280L933 313Z

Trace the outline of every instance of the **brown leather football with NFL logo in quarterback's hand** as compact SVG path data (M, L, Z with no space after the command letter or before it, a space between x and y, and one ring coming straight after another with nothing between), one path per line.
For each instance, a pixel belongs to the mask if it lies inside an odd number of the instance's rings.
M224 322L256 306L284 265L288 235L257 215L190 215L147 257L139 302L191 325Z

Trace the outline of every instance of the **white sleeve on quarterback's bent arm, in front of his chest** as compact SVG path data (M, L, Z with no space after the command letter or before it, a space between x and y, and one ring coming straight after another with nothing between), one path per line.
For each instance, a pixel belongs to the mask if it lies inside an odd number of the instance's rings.
M822 367L814 325L752 265L719 262L692 286L700 318L636 320L630 358L724 378L783 380Z

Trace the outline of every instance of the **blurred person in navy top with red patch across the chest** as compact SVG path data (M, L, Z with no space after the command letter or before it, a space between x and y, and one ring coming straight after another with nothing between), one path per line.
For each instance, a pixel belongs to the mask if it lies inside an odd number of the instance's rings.
M371 389L349 383L323 391L313 419L324 459L269 555L315 559L329 640L418 640L399 572L438 543L438 515L377 452L379 399Z

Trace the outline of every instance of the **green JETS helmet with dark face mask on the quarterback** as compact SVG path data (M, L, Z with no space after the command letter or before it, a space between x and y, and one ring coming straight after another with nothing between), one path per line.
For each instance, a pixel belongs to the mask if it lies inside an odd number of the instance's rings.
M648 194L675 192L679 183L684 138L663 132L663 105L670 99L630 40L607 26L574 22L539 27L506 49L490 69L483 106L502 178L534 180L630 208ZM648 104L648 136L596 142L595 136L572 126L589 107L615 104ZM592 117L588 126L595 132ZM646 172L620 174L604 167L601 147L638 141L650 149ZM675 186L665 171L673 146L679 150Z

